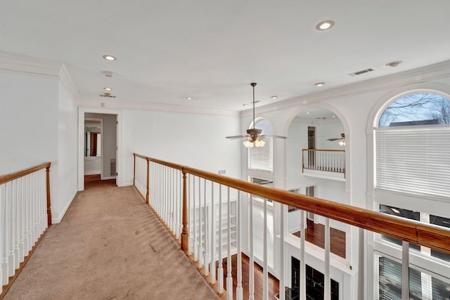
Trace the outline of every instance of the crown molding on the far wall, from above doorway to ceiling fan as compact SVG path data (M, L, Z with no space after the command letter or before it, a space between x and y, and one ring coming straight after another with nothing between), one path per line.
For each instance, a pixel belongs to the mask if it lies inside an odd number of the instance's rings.
M104 108L113 108L117 110L153 110L159 112L181 112L195 115L240 117L240 112L233 110L212 110L201 107L186 107L178 105L167 105L161 103L144 103L134 101L110 100L108 98L102 100L83 99L77 101L77 103L79 107L104 107Z

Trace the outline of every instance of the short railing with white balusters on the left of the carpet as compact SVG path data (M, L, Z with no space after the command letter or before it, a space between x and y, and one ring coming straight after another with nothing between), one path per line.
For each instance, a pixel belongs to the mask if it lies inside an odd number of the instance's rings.
M1 294L11 287L51 226L50 165L45 162L0 176Z

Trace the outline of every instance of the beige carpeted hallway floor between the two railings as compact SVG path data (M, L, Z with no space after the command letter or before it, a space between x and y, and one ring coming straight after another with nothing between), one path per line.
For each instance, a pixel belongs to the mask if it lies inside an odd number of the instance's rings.
M219 299L133 187L86 182L4 299Z

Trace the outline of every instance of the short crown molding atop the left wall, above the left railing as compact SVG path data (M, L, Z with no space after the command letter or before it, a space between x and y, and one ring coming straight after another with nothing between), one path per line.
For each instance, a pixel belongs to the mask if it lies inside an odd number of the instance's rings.
M0 52L0 70L59 77L63 63Z

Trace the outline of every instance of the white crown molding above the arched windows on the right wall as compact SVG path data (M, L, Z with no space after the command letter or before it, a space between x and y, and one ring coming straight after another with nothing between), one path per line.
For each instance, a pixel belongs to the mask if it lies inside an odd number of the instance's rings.
M263 105L258 108L258 113L288 109L298 106L299 103L307 105L332 98L343 98L346 96L359 95L361 93L394 89L399 86L408 86L410 84L417 84L419 82L441 79L444 77L450 77L450 60ZM251 113L251 110L243 110L240 115L243 117L251 115Z

